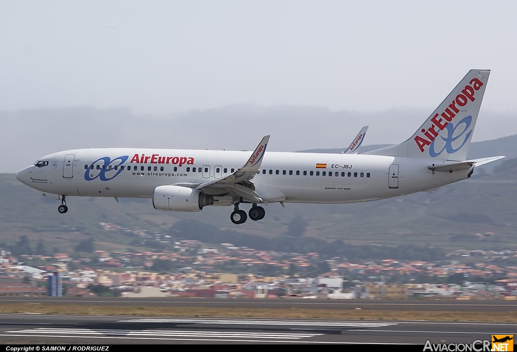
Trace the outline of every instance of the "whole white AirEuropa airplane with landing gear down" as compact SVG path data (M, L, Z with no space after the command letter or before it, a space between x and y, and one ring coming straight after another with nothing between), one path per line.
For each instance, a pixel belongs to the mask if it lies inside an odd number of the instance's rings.
M269 136L251 155L73 149L40 158L16 178L45 196L57 195L59 213L68 211L67 196L152 198L155 209L164 211L234 205L236 224L247 219L241 203L252 204L249 217L261 220L265 211L257 204L352 203L429 191L467 179L474 167L504 157L466 159L489 74L470 70L413 136L363 154L266 153Z

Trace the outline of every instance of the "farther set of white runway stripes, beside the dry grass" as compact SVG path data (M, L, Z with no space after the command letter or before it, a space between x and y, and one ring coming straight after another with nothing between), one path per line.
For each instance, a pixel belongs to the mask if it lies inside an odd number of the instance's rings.
M399 323L332 322L332 321L280 321L254 319L188 319L188 318L138 318L120 320L121 323L189 323L189 324L238 324L238 325L291 325L291 326L337 326L353 328L381 328Z

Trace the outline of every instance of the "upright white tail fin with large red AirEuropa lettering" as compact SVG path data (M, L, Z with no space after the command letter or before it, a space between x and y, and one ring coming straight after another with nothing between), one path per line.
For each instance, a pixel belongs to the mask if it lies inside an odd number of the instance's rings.
M364 154L465 161L489 75L490 70L468 71L413 136Z

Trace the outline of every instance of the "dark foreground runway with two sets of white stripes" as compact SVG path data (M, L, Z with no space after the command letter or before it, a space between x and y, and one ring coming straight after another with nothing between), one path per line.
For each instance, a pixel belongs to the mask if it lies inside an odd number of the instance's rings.
M425 344L514 334L516 323L0 314L0 343Z

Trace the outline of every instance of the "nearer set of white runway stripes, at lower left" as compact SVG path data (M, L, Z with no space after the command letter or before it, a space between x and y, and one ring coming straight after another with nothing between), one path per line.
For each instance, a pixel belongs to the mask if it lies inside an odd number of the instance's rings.
M5 331L2 335L8 336L25 336L25 337L41 337L56 336L66 338L161 338L161 339L177 339L177 338L195 338L195 339L281 339L281 340L299 340L304 338L312 338L323 335L321 333L268 333L268 332L234 332L234 331L189 331L189 330L119 330L119 329L67 329L67 328L37 328L25 330Z

